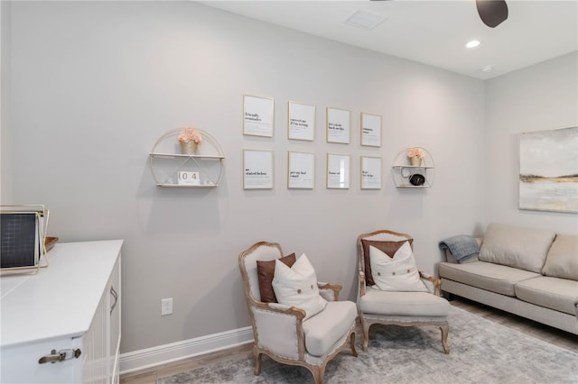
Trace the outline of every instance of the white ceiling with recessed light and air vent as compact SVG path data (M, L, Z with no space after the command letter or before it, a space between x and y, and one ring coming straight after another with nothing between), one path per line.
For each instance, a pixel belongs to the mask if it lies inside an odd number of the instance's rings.
M578 0L507 0L508 20L496 28L480 21L474 0L198 3L481 79L578 50ZM343 23L359 10L387 20L370 31ZM466 49L471 39L480 46Z

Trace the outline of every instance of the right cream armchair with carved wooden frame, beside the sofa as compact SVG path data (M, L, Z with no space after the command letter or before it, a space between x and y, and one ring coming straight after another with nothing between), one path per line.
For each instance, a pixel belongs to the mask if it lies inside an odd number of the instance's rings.
M424 282L428 292L385 291L376 288L377 286L374 287L369 246L374 245L382 249L389 247L390 252L393 253L396 248L407 241L412 245L413 239L410 235L387 230L363 233L358 237L358 310L363 329L363 350L368 349L368 334L371 325L434 325L440 327L442 331L443 352L449 353L447 315L450 311L450 304L441 297L440 279L418 271L419 278Z

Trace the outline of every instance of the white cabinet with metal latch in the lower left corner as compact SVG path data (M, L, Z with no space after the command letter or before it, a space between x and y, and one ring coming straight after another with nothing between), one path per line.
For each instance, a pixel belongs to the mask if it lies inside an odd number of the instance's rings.
M48 268L2 276L1 382L118 382L122 243L56 244Z

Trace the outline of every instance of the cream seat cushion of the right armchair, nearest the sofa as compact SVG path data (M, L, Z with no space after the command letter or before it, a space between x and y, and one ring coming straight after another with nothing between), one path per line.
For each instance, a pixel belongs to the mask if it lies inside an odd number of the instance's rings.
M450 303L428 292L387 292L368 287L359 297L361 311L374 315L445 317Z

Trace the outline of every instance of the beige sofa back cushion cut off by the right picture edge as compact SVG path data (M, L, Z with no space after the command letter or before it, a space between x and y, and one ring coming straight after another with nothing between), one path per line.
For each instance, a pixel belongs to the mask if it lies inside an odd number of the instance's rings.
M556 236L545 258L542 273L555 278L578 280L578 235Z

